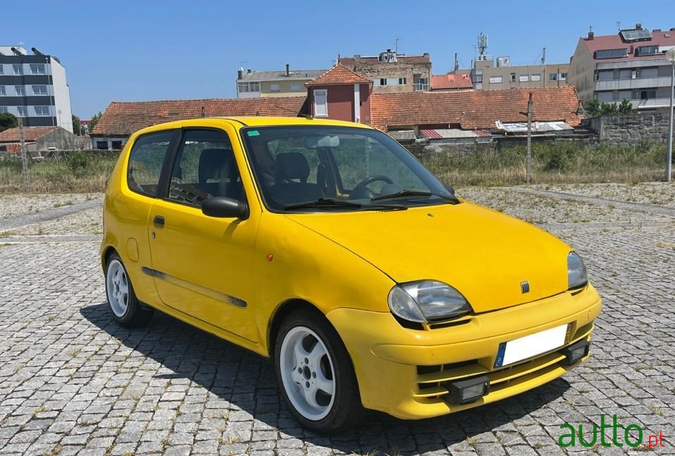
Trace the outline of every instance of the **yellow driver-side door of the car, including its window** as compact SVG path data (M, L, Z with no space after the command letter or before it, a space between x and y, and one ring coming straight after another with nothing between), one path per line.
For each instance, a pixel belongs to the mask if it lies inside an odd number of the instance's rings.
M236 132L229 132L236 139ZM246 201L244 156L216 129L184 129L168 194L151 208L153 275L166 305L250 341L258 341L253 305L253 244L260 213L246 220L208 217L211 196Z

